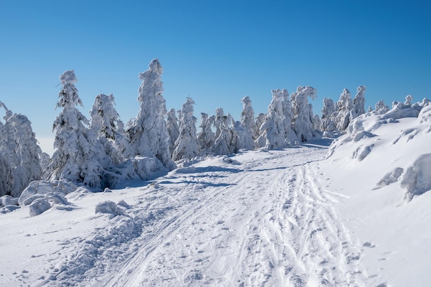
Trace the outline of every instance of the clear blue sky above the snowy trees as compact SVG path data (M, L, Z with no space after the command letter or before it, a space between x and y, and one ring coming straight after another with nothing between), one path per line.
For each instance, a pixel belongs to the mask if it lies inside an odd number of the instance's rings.
M266 112L271 89L298 85L317 89L318 114L323 98L345 87L355 96L359 85L366 108L416 102L431 98L430 11L414 0L0 0L0 100L28 116L48 152L65 70L76 72L83 114L112 93L125 123L154 58L167 109L190 96L198 123L217 107L239 120L246 95Z

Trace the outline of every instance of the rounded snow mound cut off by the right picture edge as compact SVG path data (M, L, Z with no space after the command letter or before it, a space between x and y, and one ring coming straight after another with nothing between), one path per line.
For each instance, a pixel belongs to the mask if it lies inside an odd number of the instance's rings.
M431 190L431 153L410 162L399 178L399 186L406 191L405 198L408 200Z

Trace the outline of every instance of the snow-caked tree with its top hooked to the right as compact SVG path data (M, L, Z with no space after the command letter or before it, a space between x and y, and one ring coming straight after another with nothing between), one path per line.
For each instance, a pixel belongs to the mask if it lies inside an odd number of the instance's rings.
M291 94L292 109L293 109L293 130L297 135L298 140L304 142L318 136L318 132L313 128L308 106L308 97L314 100L317 90L310 86L299 86L296 92Z

